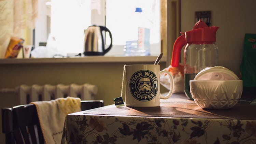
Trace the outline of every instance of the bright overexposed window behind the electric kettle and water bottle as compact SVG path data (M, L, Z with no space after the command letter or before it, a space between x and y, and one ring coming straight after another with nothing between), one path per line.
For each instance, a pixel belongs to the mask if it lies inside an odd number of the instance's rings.
M138 39L140 20L150 28L151 55L158 55L160 52L159 0L52 0L47 3L39 0L39 7L42 5L45 8L41 10L45 12L39 13L39 20L41 18L46 22L37 22L35 26L35 47L39 46L39 42L47 40L47 47L52 45L51 48L61 55L83 53L84 30L96 24L105 25L112 33L113 46L106 55L122 56L125 42ZM136 7L142 8L140 14L143 17L139 20L134 12ZM50 9L47 11L47 8ZM50 13L48 18L46 13ZM47 21L48 26L44 25ZM42 32L46 36L42 37ZM54 39L50 39L48 35ZM104 36L108 47L108 33Z

